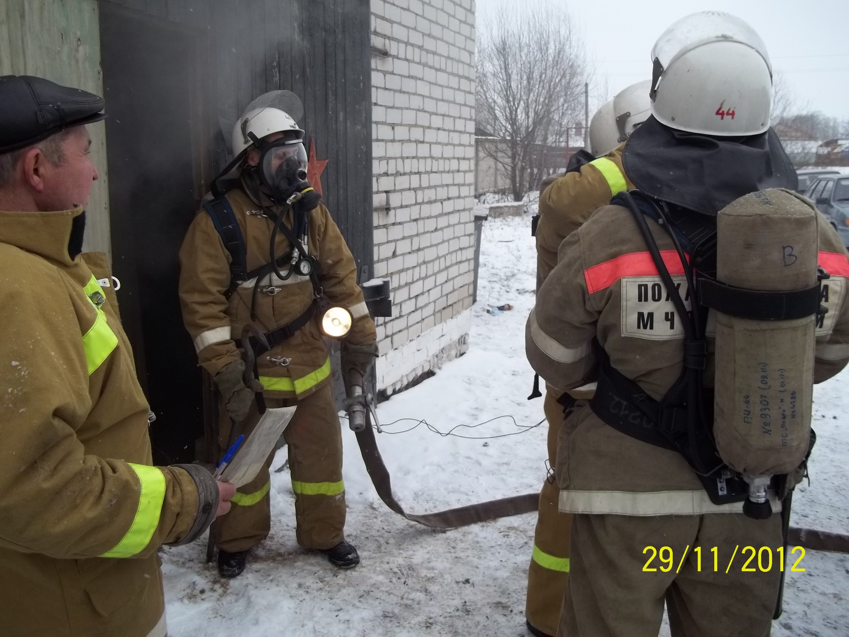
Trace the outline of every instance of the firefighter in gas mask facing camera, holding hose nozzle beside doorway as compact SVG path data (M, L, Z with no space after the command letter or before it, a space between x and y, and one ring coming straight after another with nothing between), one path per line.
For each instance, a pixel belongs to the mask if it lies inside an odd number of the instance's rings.
M297 541L350 568L359 556L344 535L340 421L323 337L344 339L345 377L349 369L367 375L376 335L351 251L306 181L304 132L278 108L293 98L267 93L233 127L235 160L183 241L180 301L200 365L215 381L221 453L237 433L250 434L266 407L296 405L284 438ZM300 109L294 99L288 110ZM272 457L216 524L222 577L239 575L269 532Z

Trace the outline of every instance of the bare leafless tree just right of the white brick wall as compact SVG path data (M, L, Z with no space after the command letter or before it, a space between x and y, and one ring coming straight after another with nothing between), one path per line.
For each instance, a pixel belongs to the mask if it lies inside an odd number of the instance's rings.
M503 6L477 41L477 124L498 138L481 146L509 175L514 200L547 172L552 147L583 121L587 64L565 11Z

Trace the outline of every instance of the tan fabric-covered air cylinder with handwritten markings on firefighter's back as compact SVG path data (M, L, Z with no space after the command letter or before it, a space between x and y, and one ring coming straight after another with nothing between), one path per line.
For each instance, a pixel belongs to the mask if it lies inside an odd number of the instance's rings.
M717 279L746 290L817 284L818 218L795 194L763 190L717 215ZM744 512L771 512L771 476L795 471L811 429L815 316L752 320L717 312L713 431L749 483Z

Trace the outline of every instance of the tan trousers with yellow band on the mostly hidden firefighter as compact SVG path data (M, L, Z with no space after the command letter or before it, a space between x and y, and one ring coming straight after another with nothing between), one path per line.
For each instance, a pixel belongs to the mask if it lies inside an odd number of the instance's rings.
M563 425L563 406L557 402L560 392L546 387L545 411L548 420L548 465L557 464L557 437ZM558 510L560 488L554 473L546 477L539 494L537 528L533 538L525 617L545 634L555 634L563 605L566 580L569 579L569 537L571 514Z

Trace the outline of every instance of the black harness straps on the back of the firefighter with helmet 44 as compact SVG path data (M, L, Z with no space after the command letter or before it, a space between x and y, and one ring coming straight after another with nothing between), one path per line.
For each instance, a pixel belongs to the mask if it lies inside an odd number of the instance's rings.
M807 290L791 292L744 290L722 284L715 278L716 227L715 223L711 225L714 217L690 213L685 217L689 217L690 223L695 220L695 226L683 231L681 225L685 224L670 223L673 215L664 202L655 202L638 190L617 194L610 203L625 206L633 214L682 321L684 356L681 375L658 401L614 368L607 352L596 343L598 386L590 401L593 413L617 431L681 454L699 476L713 504L742 502L747 497L748 485L717 452L713 437L713 392L702 383L707 361L706 309L711 307L739 318L758 320L821 314L825 308L819 305L819 281ZM644 216L655 219L672 238L691 292L690 311L672 281ZM683 245L688 247L690 260ZM819 280L827 278L828 274L820 271Z

